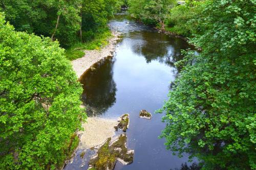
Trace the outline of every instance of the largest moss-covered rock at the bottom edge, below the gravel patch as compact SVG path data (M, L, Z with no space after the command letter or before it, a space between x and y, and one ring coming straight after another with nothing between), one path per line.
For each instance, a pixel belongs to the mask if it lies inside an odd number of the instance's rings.
M126 148L126 135L121 134L115 141L108 138L98 149L97 154L89 161L88 169L114 169L116 161L122 164L133 162L134 151Z

